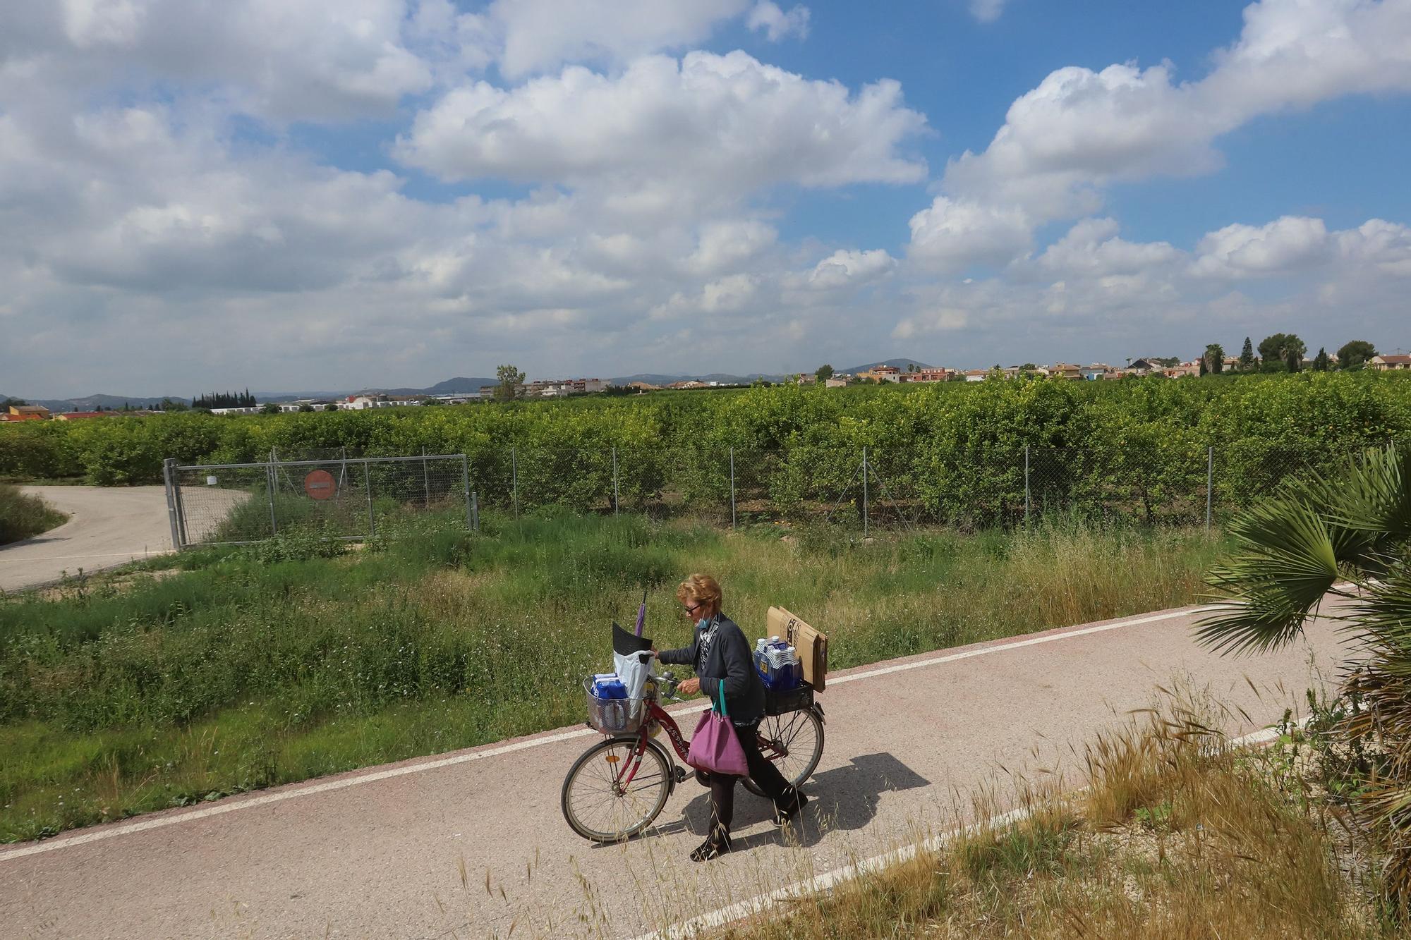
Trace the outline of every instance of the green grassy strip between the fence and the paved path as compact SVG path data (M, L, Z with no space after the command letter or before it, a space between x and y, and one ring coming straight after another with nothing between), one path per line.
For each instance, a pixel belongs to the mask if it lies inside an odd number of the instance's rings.
M762 632L770 604L834 669L1189 603L1219 545L1058 521L859 545L641 517L435 519L363 550L282 534L0 603L0 840L581 721L580 677L649 589L706 570ZM325 558L337 552L333 558Z

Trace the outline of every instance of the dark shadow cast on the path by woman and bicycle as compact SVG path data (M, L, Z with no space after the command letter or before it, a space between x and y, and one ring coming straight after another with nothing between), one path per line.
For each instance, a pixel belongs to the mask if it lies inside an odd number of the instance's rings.
M824 833L837 828L862 828L871 823L876 817L883 793L928 785L930 781L890 754L855 757L842 766L811 776L803 785L810 800L803 814L789 826L787 831L769 830L735 838L735 850L780 843L814 845ZM696 786L696 783L687 779L684 786ZM739 833L756 823L770 820L773 810L769 800L739 786L735 790L735 821L731 828ZM696 799L687 803L680 824L669 823L660 828L666 831L686 828L704 838L710 830L710 790L701 790Z

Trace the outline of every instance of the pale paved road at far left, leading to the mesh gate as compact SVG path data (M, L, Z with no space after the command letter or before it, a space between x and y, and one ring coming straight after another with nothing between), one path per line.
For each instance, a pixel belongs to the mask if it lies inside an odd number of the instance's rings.
M21 487L69 521L0 548L0 590L55 582L172 550L162 487Z

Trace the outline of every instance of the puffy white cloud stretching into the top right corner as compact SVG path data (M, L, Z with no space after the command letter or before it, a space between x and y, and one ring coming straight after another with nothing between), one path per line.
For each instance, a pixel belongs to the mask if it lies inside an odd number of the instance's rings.
M1216 169L1218 138L1253 117L1355 93L1411 90L1411 3L1260 0L1212 71L1170 64L1051 72L989 147L952 159L941 191L1033 226L1091 215L1119 181Z

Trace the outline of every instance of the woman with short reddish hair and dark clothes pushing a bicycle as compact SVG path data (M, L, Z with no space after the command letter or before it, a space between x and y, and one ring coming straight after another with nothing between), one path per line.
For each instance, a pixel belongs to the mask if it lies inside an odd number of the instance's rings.
M755 672L749 641L735 621L721 614L720 584L710 574L687 577L676 589L676 600L682 603L683 613L696 621L691 644L662 649L656 658L696 670L696 679L687 679L677 687L683 694L704 692L714 700L724 687L725 706L745 752L749 776L773 800L775 824L783 826L799 814L809 797L790 786L779 768L759 752L756 728L765 714L765 685ZM710 785L711 820L710 834L691 852L691 860L707 861L731 850L729 826L735 819L735 782L739 778L696 773Z

